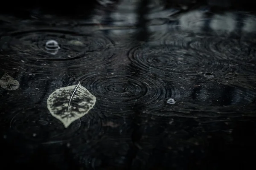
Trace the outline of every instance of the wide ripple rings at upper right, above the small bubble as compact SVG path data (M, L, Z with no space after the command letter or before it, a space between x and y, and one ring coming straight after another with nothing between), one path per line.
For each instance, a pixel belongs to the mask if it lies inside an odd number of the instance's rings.
M141 45L131 48L127 55L131 65L145 73L163 79L179 78L186 82L209 82L231 71L229 64L220 56L189 48L188 42L168 45ZM215 77L206 77L211 73Z

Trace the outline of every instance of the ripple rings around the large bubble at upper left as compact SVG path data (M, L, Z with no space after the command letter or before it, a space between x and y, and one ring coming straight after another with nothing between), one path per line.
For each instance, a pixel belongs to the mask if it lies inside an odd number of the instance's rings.
M113 62L115 56L112 50L114 42L102 34L38 29L12 32L1 39L8 40L1 45L3 59L11 60L15 67L27 68L25 71L54 72L59 65L65 65L64 69L103 67ZM55 55L49 54L45 48L49 40L58 42L60 48Z

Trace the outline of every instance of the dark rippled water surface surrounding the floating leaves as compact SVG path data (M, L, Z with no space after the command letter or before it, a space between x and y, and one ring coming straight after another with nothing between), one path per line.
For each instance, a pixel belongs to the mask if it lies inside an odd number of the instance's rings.
M255 16L139 5L0 16L3 170L255 166ZM79 82L96 104L65 128L47 99Z

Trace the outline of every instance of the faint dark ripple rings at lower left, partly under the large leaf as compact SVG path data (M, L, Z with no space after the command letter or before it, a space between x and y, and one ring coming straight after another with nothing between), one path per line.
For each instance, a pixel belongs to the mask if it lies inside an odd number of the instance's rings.
M81 121L78 119L70 125L70 128L65 129L58 119L52 117L39 105L16 111L10 122L10 128L15 133L37 142L66 141L75 135L80 126Z

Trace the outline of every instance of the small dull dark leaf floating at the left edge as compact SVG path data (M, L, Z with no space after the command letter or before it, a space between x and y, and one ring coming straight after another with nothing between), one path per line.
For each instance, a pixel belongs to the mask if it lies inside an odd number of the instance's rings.
M5 73L3 74L3 77L0 79L0 85L2 88L6 90L13 91L19 88L20 83Z

